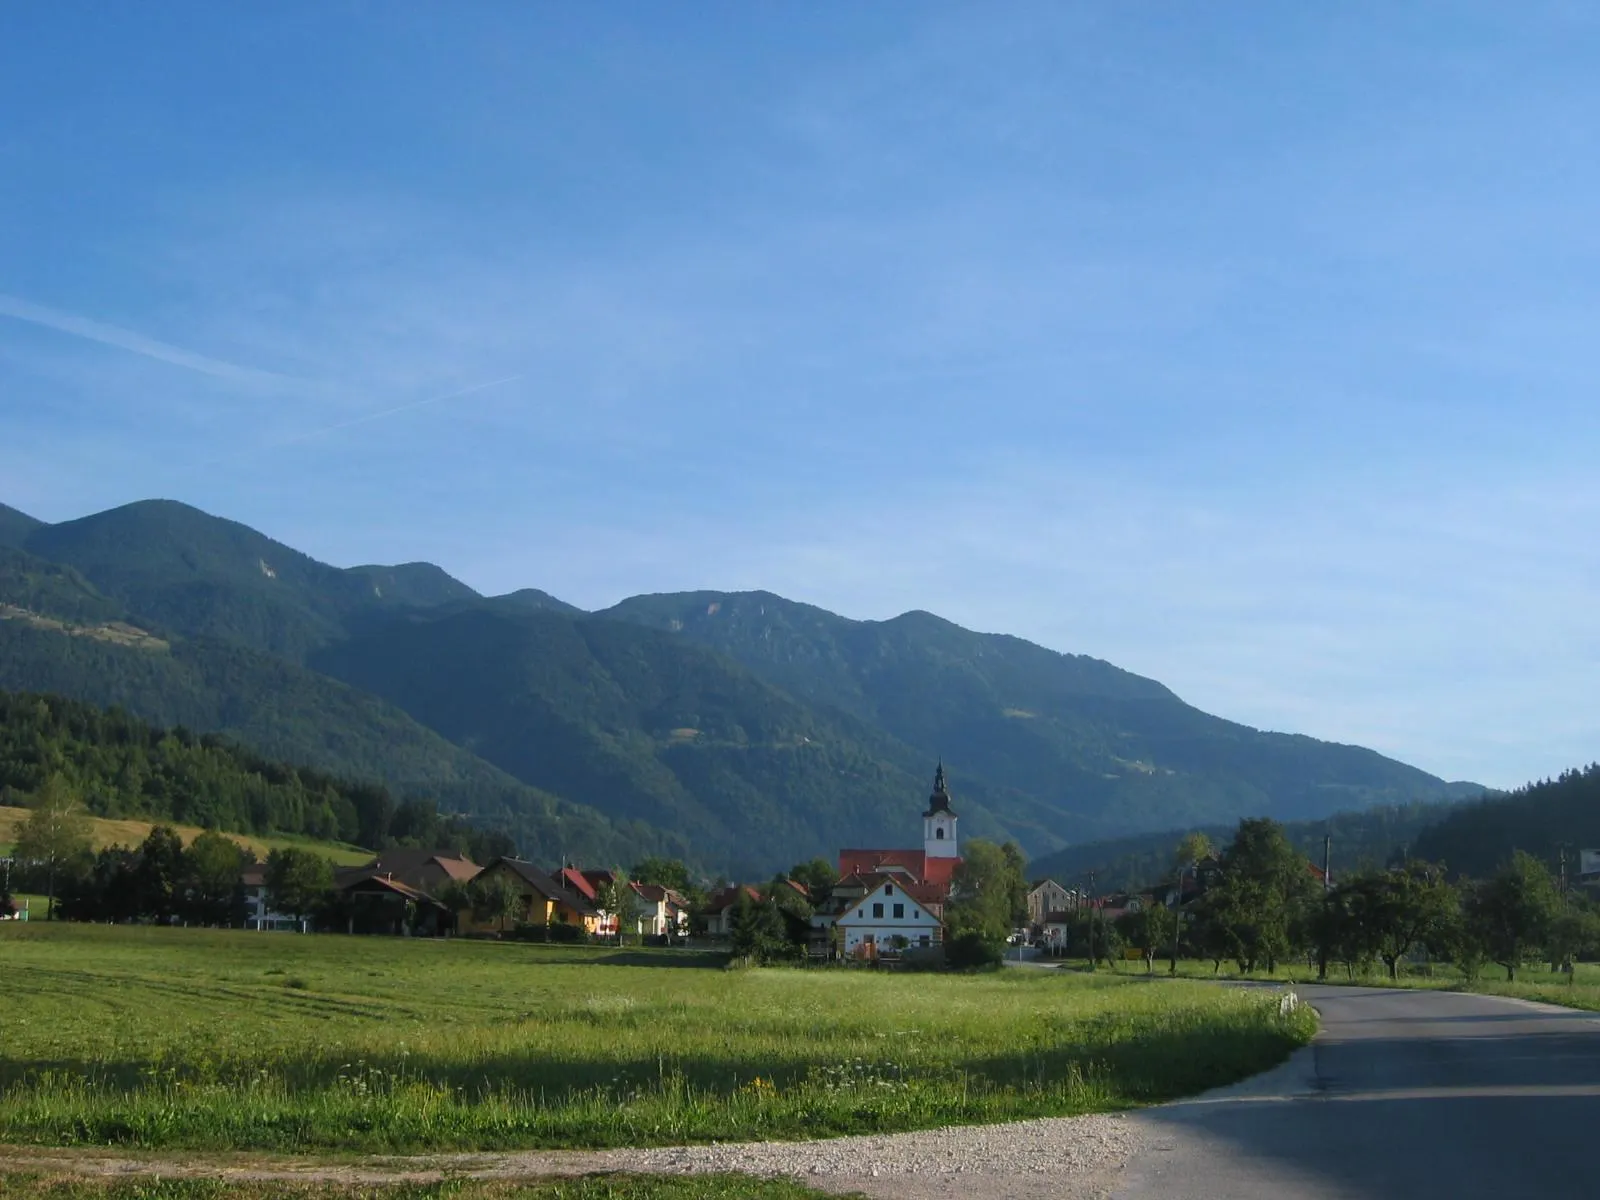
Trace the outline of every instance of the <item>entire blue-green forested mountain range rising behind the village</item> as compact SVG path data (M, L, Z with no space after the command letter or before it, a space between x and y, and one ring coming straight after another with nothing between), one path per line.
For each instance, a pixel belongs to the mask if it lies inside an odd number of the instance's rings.
M765 592L586 613L430 563L331 566L173 501L59 525L0 506L0 688L381 779L539 858L728 874L914 840L941 757L963 835L1030 854L1482 790L931 613Z

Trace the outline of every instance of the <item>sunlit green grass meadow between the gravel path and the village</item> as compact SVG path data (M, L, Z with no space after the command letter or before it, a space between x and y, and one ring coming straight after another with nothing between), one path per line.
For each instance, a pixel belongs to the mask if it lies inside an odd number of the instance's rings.
M421 1150L1104 1110L1312 1032L1195 981L728 971L688 952L0 926L0 1141Z

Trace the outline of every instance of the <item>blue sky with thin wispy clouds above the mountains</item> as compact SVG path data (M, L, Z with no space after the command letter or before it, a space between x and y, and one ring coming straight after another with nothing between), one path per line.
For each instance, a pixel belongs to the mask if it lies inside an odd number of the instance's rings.
M1326 10L1326 11L1318 11ZM0 499L1597 757L1584 5L0 13Z

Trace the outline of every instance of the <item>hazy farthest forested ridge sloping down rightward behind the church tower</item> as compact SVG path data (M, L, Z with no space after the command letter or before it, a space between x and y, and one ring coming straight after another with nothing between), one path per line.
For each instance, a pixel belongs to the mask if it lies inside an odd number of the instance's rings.
M848 621L766 592L691 592L634 597L600 616L718 650L1064 821L1088 818L1101 835L1242 813L1304 819L1461 790L1373 750L1221 720L1109 662L930 613Z

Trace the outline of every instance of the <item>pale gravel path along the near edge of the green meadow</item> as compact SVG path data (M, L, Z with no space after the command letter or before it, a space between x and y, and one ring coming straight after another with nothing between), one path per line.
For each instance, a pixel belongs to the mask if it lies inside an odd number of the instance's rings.
M542 1150L374 1158L365 1163L178 1162L0 1147L0 1170L72 1174L224 1176L397 1182L475 1176L514 1179L592 1171L794 1176L826 1192L875 1200L1101 1200L1138 1149L1118 1114L962 1125L814 1142L730 1142L643 1150Z

